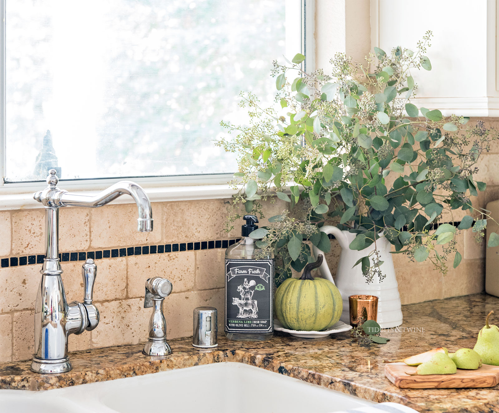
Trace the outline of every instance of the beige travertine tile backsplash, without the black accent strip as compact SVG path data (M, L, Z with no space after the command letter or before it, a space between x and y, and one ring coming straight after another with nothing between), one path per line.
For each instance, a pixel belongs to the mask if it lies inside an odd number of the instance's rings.
M473 121L473 120L472 120ZM499 123L499 122L490 122ZM493 125L490 125L493 126ZM496 125L498 126L498 125ZM499 144L483 154L477 180L488 183L487 191L474 200L476 207L499 198ZM111 248L197 242L238 238L239 224L224 231L228 200L203 200L154 203L153 232L137 232L134 204L108 205L85 209L60 209L59 251L95 251ZM286 206L267 202L266 217L278 214ZM454 220L465 213L455 211ZM448 218L447 218L448 219ZM445 219L444 219L445 221ZM265 225L266 219L260 221ZM0 258L44 253L43 209L0 211ZM431 263L408 262L394 254L394 264L403 304L473 294L484 290L485 243L476 244L471 230L461 231L458 249L463 260L443 276ZM151 309L143 308L144 282L152 276L165 276L173 282L174 292L164 302L168 337L192 334L192 311L200 305L219 310L219 328L223 314L223 248L132 255L96 260L97 279L94 299L100 311L100 323L92 332L69 337L70 350L83 350L120 344L137 344L147 339ZM340 247L332 241L326 256L334 274ZM81 300L83 294L82 261L62 262L62 275L68 302ZM33 307L40 281L41 264L0 268L0 361L26 360L33 352Z

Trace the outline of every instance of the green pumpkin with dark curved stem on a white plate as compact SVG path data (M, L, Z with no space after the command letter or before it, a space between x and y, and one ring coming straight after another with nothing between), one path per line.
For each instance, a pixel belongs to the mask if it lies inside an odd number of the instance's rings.
M317 258L305 266L301 278L288 278L275 291L275 315L287 329L323 331L340 319L343 302L338 288L310 275L322 263L322 255Z

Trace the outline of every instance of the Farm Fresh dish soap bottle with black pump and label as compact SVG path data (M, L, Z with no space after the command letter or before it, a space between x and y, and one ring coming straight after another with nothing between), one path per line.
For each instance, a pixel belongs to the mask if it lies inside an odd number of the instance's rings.
M274 255L262 256L249 237L258 228L256 216L243 219L243 238L225 253L225 335L230 340L268 340L274 329Z

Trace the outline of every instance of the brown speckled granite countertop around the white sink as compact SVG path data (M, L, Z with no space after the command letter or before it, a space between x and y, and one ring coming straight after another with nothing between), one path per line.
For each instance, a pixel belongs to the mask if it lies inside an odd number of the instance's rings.
M39 375L30 362L0 363L0 389L49 390L216 362L242 362L376 402L396 402L418 412L499 412L499 386L489 389L404 390L383 373L384 359L399 359L433 347L473 348L487 313L499 315L499 298L474 294L402 307L404 323L387 330L384 345L361 347L350 332L320 339L276 333L265 342L238 342L219 334L216 349L191 346L192 339L169 340L173 353L144 356L143 345L71 353L73 370ZM493 320L494 322L494 320ZM498 324L495 322L495 324Z

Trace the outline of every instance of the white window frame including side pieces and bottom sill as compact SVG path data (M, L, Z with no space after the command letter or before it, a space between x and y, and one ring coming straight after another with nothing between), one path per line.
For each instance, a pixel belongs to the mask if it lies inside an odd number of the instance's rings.
M314 25L315 7L314 0L285 0L286 4L286 40L293 36L295 22L300 21L299 52L307 56L306 70L314 69L315 44ZM39 204L32 199L32 194L44 187L42 181L6 183L5 182L5 3L0 0L0 210L39 208ZM297 4L299 3L299 4ZM294 7L293 7L294 6ZM299 20L297 20L299 19ZM294 22L294 25L291 23ZM294 33L296 37L296 33ZM296 40L296 39L295 39ZM288 42L286 41L286 44ZM295 53L286 50L286 53ZM233 174L204 174L204 175L171 175L171 176L149 176L149 177L116 177L116 178L93 178L60 180L59 187L67 191L78 191L81 193L95 193L110 185L123 181L132 180L141 185L147 192L151 202L182 201L201 199L231 198L235 190L230 187L229 182ZM115 203L131 203L129 197L120 197Z

